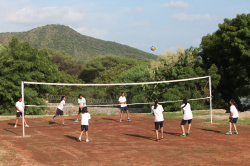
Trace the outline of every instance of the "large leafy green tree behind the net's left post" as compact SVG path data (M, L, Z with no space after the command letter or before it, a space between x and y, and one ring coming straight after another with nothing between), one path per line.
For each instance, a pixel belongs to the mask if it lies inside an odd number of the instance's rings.
M76 77L62 74L51 62L46 49L35 49L28 42L19 43L13 37L8 47L0 53L0 114L15 111L17 97L21 96L21 81L75 82ZM62 88L62 87L60 87ZM45 93L56 93L60 88L46 85L25 85L25 104L43 105ZM64 88L64 94L71 89ZM41 108L28 107L27 114L39 114Z

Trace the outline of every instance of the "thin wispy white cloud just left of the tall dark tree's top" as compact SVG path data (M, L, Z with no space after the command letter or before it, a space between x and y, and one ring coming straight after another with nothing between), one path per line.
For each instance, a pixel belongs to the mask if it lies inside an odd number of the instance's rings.
M180 21L200 21L200 20L201 21L212 21L212 20L216 20L215 16L210 16L209 14L187 15L185 13L177 13L177 14L172 15L171 18L174 20L180 20Z

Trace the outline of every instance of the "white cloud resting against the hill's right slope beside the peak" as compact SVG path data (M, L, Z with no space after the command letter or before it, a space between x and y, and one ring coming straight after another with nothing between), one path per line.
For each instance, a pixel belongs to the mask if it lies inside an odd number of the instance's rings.
M91 36L91 37L103 39L103 40L109 39L109 33L107 29L97 29L97 28L88 28L88 27L73 28L73 29L86 36Z

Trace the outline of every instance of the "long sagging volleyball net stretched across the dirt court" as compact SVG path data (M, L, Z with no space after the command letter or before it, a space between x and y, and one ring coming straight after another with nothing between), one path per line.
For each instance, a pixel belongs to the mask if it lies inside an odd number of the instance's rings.
M31 94L36 89L40 98L46 102L34 102ZM21 82L21 93L26 107L33 109L46 109L48 102L60 103L60 97L66 96L66 103L78 107L78 95L86 99L87 107L119 107L119 96L125 93L128 107L150 108L155 98L159 99L167 111L179 110L181 102L186 98L192 108L208 108L212 123L212 85L211 76L134 83L111 84L73 84L73 83L46 83ZM52 92L52 93L51 93ZM27 99L26 99L27 98ZM103 99L104 98L104 99ZM43 103L43 104L41 104ZM67 105L66 105L67 107ZM24 130L24 129L23 129Z

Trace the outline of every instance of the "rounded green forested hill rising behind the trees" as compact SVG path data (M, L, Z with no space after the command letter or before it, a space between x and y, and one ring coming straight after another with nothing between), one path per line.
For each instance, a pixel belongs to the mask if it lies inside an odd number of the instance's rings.
M82 35L64 25L46 25L27 32L0 33L0 44L8 45L13 36L17 36L20 42L28 41L35 48L64 50L84 63L98 55L108 54L118 56L136 54L143 59L157 58L154 54L130 46Z

